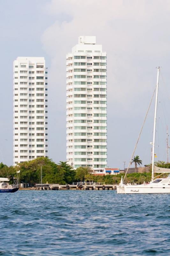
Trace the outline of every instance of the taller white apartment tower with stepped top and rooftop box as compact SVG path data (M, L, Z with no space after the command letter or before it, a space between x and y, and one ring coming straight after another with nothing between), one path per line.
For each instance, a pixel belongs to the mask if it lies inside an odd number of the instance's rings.
M67 161L107 167L107 55L95 36L79 36L66 56Z

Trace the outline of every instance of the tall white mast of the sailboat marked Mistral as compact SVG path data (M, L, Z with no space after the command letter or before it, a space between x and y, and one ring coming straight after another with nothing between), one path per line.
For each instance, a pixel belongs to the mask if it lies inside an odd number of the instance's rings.
M159 69L160 68L158 67L157 82L156 82L154 124L153 124L152 181L153 181L153 178L154 178L155 133L156 133L156 114L157 114L157 103L158 103Z

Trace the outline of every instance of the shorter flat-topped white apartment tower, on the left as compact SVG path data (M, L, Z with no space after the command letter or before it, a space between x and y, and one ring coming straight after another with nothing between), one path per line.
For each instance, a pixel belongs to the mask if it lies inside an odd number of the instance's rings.
M13 62L13 164L48 156L47 68L43 57Z

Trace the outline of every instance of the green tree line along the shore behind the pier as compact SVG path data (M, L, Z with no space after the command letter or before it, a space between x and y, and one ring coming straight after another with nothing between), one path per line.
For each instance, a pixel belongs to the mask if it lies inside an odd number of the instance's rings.
M163 168L170 168L170 163L162 161L156 162L155 165ZM151 165L148 165L149 172L145 173L131 173L127 174L127 182L136 182L142 184L144 181L151 180ZM67 162L60 161L56 164L48 157L40 157L32 161L19 163L16 166L7 166L0 163L0 177L8 177L10 182L18 178L20 183L29 183L34 186L41 182L41 168L42 168L42 183L59 183L72 184L72 182L86 181L86 182L101 182L105 184L119 184L121 177L124 174L117 175L93 175L91 169L88 167L78 167L76 170L72 168Z

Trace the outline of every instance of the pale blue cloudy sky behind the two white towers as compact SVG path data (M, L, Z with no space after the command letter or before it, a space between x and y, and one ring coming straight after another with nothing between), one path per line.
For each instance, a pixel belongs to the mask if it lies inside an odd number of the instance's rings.
M13 60L45 57L49 157L66 161L66 53L78 36L107 52L108 166L127 167L161 67L156 160L166 161L170 100L170 2L159 0L0 0L0 162L13 163ZM162 87L161 87L162 86ZM135 155L151 161L153 108Z

